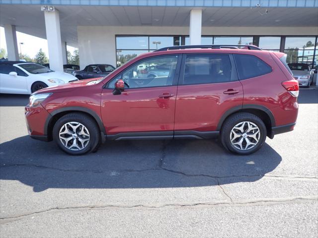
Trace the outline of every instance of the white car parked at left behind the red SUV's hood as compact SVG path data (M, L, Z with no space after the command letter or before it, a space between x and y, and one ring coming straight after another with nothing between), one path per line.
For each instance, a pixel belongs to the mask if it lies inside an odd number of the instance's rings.
M0 93L31 94L41 88L78 80L41 64L20 61L0 62Z

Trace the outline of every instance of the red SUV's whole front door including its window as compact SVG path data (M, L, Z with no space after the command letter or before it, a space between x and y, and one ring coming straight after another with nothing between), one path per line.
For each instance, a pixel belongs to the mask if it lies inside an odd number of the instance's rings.
M180 61L179 55L139 60L106 84L101 93L101 115L108 139L173 137L176 74L179 71L176 69ZM152 71L148 75L147 70L140 70L150 65L160 66L161 71ZM163 72L162 68L165 69ZM125 89L114 95L114 85L119 79L124 80Z

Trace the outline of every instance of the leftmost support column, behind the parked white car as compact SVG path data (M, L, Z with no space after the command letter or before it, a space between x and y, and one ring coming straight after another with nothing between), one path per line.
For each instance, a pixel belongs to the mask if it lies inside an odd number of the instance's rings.
M16 41L15 26L4 25L5 43L8 52L8 60L17 61L19 58L18 43Z

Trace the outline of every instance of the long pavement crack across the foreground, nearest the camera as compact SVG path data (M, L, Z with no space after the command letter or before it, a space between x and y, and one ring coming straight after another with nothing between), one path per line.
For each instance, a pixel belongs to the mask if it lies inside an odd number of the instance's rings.
M270 206L270 205L278 205L284 203L295 203L295 202L311 202L311 201L318 201L318 196L308 196L308 197L294 197L294 198L271 198L271 199L256 199L256 200L238 200L231 202L212 202L212 203L190 203L190 204L163 204L160 206L149 206L149 205L132 205L132 206L125 206L125 205L82 205L82 206L71 206L71 207L53 207L48 208L41 211L36 211L27 214L21 214L18 216L12 217L3 217L0 218L0 223L8 223L14 222L23 218L27 218L30 216L34 216L36 214L43 214L51 211L58 211L58 210L92 210L92 209L108 209L108 208L146 208L146 209L159 209L159 208L166 208L166 207L215 207L215 206Z

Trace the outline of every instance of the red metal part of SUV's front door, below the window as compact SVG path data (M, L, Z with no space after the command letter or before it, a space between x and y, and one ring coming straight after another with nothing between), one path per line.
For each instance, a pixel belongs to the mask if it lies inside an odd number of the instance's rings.
M126 89L121 95L104 89L101 114L107 134L120 132L172 131L177 87ZM173 94L170 98L159 95Z

